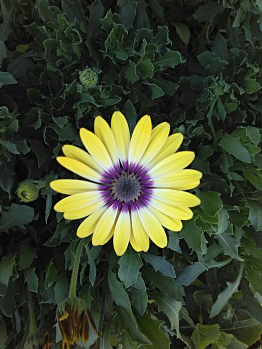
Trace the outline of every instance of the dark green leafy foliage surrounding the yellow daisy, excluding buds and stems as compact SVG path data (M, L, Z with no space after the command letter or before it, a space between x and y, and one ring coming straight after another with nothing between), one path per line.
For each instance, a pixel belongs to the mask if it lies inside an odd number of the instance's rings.
M262 2L1 0L0 348L19 348L35 294L40 329L61 347L78 222L52 205L55 161L78 129L121 110L182 132L203 172L202 204L168 248L116 257L86 239L78 290L98 349L245 349L262 334ZM86 89L79 72L100 71ZM39 188L20 202L23 181ZM254 297L255 295L255 297ZM36 302L38 300L38 302ZM101 327L101 325L103 325ZM255 348L255 347L253 347Z

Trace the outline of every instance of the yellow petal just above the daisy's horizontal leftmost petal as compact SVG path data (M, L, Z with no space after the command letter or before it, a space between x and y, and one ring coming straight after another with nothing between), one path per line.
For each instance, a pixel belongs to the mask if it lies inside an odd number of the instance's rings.
M100 182L100 174L98 174L90 167L80 163L79 161L65 157L57 157L56 160L67 170L72 171L83 178L93 180L95 182Z

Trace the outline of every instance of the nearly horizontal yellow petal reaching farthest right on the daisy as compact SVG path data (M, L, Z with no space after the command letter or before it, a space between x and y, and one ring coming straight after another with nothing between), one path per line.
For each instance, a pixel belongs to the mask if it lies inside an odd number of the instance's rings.
M185 190L185 187L190 189L196 187L192 186L194 183L198 183L199 179L202 177L202 173L196 170L182 170L180 172L177 172L175 174L168 174L166 176L161 176L157 178L157 180L154 182L155 187L166 187L166 188L173 188L178 190Z

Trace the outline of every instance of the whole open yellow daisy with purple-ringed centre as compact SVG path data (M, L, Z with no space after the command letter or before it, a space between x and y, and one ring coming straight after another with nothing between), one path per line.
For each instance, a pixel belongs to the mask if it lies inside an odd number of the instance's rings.
M93 245L103 245L113 236L115 252L121 256L129 242L136 251L147 251L149 239L159 247L167 246L163 226L180 231L181 220L192 218L189 207L200 200L183 190L198 186L202 174L184 170L195 154L175 153L183 135L169 136L169 132L167 122L152 130L151 118L145 115L130 137L127 121L117 111L111 128L97 116L94 133L80 129L88 153L63 146L65 157L58 157L58 163L86 180L57 179L50 186L70 195L54 206L65 219L87 217L77 236L93 234Z

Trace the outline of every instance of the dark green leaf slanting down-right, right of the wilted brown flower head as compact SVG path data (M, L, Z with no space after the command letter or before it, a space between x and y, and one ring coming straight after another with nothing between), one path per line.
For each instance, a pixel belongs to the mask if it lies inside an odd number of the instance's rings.
M140 330L134 313L123 307L115 307L116 313L119 319L119 325L122 331L126 331L133 342L138 342L141 344L151 344L149 339Z

